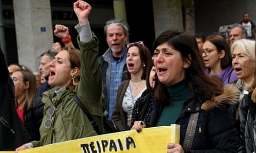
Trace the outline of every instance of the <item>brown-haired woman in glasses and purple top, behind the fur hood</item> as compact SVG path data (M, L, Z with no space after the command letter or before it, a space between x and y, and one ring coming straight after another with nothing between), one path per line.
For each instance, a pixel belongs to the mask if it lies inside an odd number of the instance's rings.
M208 36L203 44L201 55L208 75L220 77L224 85L237 80L232 67L230 44L223 37Z

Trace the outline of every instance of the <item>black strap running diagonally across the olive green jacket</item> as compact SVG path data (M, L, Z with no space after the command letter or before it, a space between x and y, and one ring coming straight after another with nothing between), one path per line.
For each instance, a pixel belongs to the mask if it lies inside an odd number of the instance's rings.
M92 118L90 112L86 109L86 107L84 106L84 104L81 102L81 100L77 97L77 93L74 93L74 100L75 102L78 104L78 106L84 111L84 114L88 117L88 119L90 120L90 123L92 125L92 127L94 128L94 130L97 132L97 134L100 134L100 130L99 127L97 126L97 122L94 120L94 118Z

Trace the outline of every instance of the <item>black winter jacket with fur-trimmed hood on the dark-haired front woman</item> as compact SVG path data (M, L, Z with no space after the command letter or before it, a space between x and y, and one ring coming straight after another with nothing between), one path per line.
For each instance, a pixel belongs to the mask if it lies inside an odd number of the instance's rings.
M238 90L233 84L227 84L224 93L214 101L203 102L188 95L176 120L176 124L181 125L179 144L183 146L190 114L199 111L193 144L188 152L237 152L238 133L228 107L237 103L238 97ZM161 111L156 103L151 112L151 127L156 125Z

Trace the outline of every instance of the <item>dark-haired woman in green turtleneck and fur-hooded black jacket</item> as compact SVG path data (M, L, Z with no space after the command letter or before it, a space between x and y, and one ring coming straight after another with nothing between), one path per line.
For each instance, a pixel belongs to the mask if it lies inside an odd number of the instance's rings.
M179 124L179 143L167 143L166 152L236 152L238 134L228 105L239 96L234 84L223 85L219 77L205 73L205 65L193 35L179 30L162 32L153 44L157 82L155 109L150 127ZM163 96L164 95L164 96ZM132 129L141 131L143 121Z

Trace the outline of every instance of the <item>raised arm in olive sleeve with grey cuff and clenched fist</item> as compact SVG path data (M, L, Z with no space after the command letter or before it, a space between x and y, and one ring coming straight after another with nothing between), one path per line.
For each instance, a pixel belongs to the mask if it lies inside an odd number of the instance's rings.
M104 97L102 94L101 63L99 61L99 41L90 29L88 16L91 12L90 4L84 1L74 3L74 11L77 14L79 24L75 26L79 36L77 37L81 56L80 82L76 88L78 97L98 123L103 132L102 108Z

